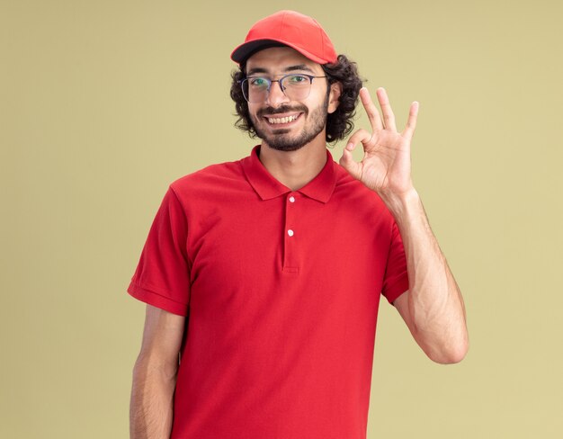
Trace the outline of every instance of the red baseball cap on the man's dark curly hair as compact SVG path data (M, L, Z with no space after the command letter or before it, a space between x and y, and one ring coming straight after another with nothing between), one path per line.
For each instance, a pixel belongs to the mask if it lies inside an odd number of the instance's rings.
M275 46L289 46L318 64L335 63L338 58L317 20L295 11L280 11L255 22L230 58L241 64L258 50Z

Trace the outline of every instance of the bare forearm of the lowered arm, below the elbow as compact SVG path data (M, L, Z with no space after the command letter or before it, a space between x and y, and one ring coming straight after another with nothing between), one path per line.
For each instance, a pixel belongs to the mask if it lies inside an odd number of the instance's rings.
M176 371L139 356L133 369L131 439L169 439L174 414Z

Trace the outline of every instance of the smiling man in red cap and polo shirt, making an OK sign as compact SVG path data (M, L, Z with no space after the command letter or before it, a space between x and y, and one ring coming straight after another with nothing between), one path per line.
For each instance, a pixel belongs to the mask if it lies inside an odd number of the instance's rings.
M281 11L232 53L249 157L170 184L128 291L147 302L133 372L134 438L365 438L382 294L438 363L468 334L460 291L398 131L313 19ZM371 132L340 165L326 142ZM362 143L356 163L352 151ZM180 354L180 360L179 360Z

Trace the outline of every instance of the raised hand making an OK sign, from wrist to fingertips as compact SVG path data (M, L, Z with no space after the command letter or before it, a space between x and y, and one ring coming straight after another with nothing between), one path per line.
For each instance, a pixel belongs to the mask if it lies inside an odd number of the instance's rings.
M340 165L380 195L400 196L413 189L410 175L410 142L415 132L418 103L411 103L407 127L398 132L385 89L378 88L376 93L383 121L371 101L368 89L363 87L360 90L360 98L370 118L371 132L362 129L353 133L344 147ZM362 142L363 158L362 162L357 163L353 160L352 151L359 142Z

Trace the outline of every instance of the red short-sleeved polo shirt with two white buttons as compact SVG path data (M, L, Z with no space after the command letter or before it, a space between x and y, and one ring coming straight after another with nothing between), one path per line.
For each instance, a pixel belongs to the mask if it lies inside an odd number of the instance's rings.
M249 157L170 184L128 291L187 316L172 438L363 439L398 227L326 151L299 191Z

